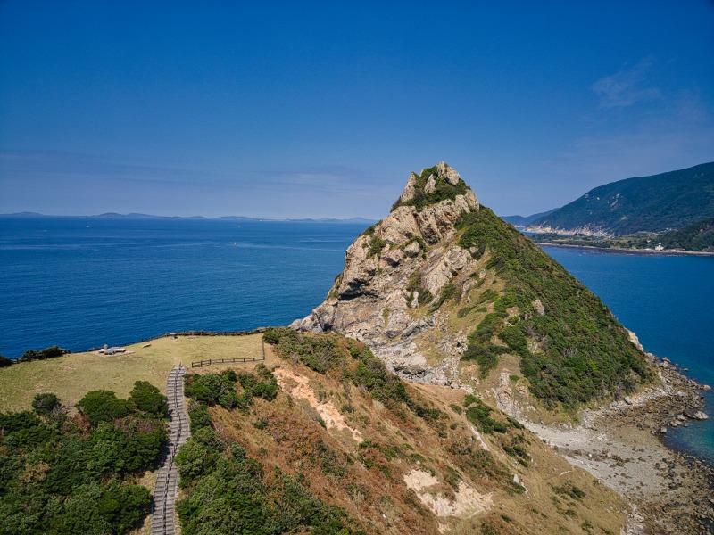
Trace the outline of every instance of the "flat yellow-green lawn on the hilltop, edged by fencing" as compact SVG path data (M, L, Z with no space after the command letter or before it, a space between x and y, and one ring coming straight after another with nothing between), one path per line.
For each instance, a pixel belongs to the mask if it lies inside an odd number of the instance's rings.
M54 392L63 404L73 406L93 390L111 390L126 398L135 381L148 381L165 391L171 366L183 364L190 369L193 360L259 357L261 338L262 334L163 337L129 345L128 352L120 355L71 353L0 368L0 412L30 408L37 392Z

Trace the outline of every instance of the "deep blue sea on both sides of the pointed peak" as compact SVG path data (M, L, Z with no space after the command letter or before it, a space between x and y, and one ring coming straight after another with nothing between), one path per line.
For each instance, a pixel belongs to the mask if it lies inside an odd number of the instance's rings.
M318 305L363 225L0 218L0 354L285 325ZM647 350L714 386L714 258L547 248ZM714 397L709 409L714 412ZM712 415L714 416L714 415ZM714 418L668 433L714 462Z

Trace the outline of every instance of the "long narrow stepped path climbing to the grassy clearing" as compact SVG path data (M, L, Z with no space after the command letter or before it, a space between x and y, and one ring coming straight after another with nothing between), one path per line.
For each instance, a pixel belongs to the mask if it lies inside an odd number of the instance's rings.
M166 397L169 399L169 443L162 467L156 474L154 484L154 510L151 519L151 535L174 535L176 533L176 496L179 469L174 463L179 448L186 442L191 431L184 403L184 379L186 368L173 366L166 381Z

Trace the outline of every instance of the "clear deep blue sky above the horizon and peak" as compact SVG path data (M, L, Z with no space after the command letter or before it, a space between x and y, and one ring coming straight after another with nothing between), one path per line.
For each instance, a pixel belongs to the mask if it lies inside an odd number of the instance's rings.
M260 4L260 5L259 5ZM502 215L714 160L714 3L0 2L0 212Z

